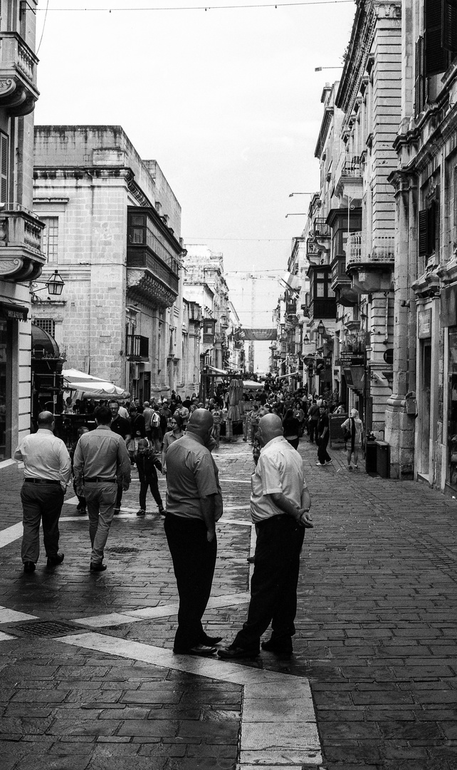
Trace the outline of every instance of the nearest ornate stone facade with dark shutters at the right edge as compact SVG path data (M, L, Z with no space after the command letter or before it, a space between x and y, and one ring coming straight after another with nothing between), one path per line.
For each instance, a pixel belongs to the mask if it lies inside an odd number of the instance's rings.
M457 7L403 0L391 472L457 492ZM392 450L391 450L392 451Z

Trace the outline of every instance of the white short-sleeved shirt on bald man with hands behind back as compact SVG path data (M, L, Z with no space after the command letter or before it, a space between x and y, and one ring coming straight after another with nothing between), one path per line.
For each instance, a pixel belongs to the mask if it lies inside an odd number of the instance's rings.
M282 493L289 502L300 507L302 491L306 487L303 460L283 436L265 444L259 462L251 477L251 517L254 523L272 516L284 515L271 495Z

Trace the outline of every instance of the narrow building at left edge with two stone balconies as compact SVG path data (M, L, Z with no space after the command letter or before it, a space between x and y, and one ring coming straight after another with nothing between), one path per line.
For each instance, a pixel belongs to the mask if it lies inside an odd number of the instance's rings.
M0 464L30 429L30 282L45 263L32 213L36 5L5 0L0 21Z

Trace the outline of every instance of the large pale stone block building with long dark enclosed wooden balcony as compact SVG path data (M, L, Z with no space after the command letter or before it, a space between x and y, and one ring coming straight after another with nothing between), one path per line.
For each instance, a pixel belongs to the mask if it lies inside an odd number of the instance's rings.
M148 400L182 384L181 207L120 126L37 126L34 210L46 272L65 281L35 322L67 366Z

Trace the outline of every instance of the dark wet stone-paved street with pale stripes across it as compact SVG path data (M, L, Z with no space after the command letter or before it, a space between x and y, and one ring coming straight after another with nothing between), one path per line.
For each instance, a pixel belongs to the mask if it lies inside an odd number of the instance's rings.
M300 452L315 528L295 653L245 664L172 654L172 565L155 503L135 516L138 481L105 573L88 571L87 518L68 494L64 563L47 570L42 554L24 575L22 473L0 469L2 770L457 770L455 500L362 464L349 474L342 450L325 468L307 441ZM249 598L252 460L238 440L216 461L225 515L205 620L230 641ZM55 624L48 636L30 634L38 621Z

